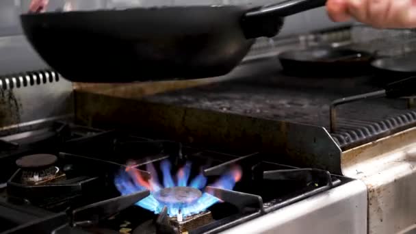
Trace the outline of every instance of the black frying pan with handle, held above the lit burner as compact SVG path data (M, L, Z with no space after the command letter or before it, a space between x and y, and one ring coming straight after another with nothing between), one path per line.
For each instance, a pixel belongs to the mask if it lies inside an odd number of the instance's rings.
M226 75L255 38L278 34L284 16L325 3L28 13L21 23L40 57L70 81L196 79Z

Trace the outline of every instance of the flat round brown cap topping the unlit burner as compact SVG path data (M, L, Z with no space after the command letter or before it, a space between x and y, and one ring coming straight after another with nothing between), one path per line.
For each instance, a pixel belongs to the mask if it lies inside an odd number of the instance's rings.
M55 155L38 154L38 155L27 155L16 160L16 164L19 168L34 170L49 168L57 161Z

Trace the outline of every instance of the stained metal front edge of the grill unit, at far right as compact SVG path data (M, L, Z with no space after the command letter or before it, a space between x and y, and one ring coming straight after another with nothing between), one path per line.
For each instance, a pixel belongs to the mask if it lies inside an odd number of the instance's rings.
M416 127L342 153L343 174L368 189L373 233L402 233L416 223Z

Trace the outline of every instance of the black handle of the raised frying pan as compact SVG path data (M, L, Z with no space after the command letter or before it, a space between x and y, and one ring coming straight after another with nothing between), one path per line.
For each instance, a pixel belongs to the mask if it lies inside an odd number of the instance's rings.
M246 38L276 36L283 26L283 17L314 8L320 8L326 0L285 0L272 5L265 5L246 12L242 27Z

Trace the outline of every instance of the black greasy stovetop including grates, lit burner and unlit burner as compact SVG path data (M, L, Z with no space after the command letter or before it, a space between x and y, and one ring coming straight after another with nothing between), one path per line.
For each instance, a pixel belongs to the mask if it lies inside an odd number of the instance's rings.
M216 233L349 181L65 122L0 140L5 233Z

